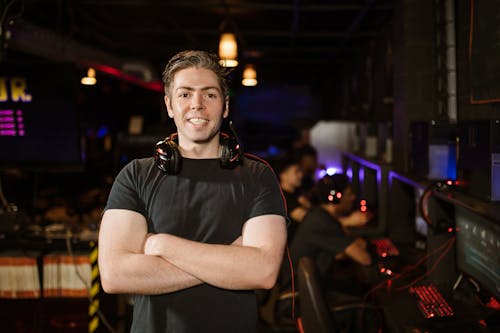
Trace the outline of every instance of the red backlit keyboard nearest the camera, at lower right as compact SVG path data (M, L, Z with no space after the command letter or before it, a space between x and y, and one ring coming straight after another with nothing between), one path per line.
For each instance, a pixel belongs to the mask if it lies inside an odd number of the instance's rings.
M453 316L452 307L434 285L413 286L408 291L417 298L417 306L425 318Z

